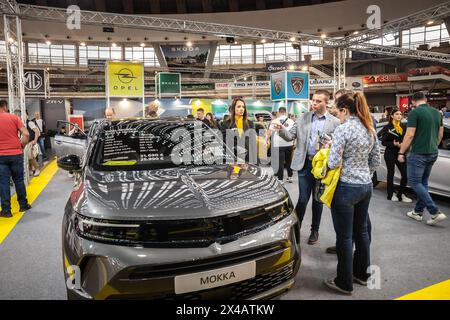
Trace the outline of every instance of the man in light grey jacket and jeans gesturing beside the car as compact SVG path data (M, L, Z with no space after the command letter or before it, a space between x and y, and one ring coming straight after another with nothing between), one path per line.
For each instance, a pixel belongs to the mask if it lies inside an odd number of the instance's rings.
M312 159L320 149L320 137L332 135L334 129L340 125L339 119L327 111L330 93L317 90L312 99L312 111L301 115L294 126L288 131L281 124L274 121L279 136L286 141L297 139L297 145L292 159L291 168L298 171L299 199L296 211L300 224L303 221L309 198L314 192L316 179L311 173ZM319 227L322 218L323 203L315 201L312 204L311 235L308 244L316 244L319 240Z

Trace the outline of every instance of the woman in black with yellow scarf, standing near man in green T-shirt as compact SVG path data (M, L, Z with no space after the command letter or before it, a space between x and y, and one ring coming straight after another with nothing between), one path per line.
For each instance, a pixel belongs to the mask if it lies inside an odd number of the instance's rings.
M400 147L402 146L403 137L406 133L406 126L402 125L402 112L398 108L393 108L388 114L389 123L383 128L381 144L386 147L384 151L384 161L387 168L387 198L388 200L406 203L412 202L411 199L404 195L407 180L406 163L397 160ZM394 194L394 174L395 166L400 170L401 181L400 188Z

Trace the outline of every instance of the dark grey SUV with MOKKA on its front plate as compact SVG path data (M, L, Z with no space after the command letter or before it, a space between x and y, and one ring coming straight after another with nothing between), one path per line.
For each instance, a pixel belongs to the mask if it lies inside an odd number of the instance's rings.
M197 121L95 130L82 159L58 159L77 173L62 226L69 299L263 299L293 285L299 226L277 179Z

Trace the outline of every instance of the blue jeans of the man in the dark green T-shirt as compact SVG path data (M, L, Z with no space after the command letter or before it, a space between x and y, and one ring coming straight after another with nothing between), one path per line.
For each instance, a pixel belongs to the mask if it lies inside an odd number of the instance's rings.
M417 203L414 209L417 213L423 213L427 208L430 214L435 215L439 209L428 192L428 179L431 169L438 158L438 154L410 154L408 155L408 182L417 195Z

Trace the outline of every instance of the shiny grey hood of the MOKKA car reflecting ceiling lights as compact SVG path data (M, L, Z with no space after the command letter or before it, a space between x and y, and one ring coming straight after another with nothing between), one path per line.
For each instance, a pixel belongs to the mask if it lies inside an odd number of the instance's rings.
M287 196L277 179L253 165L98 172L75 187L74 210L99 219L190 219L261 207Z

